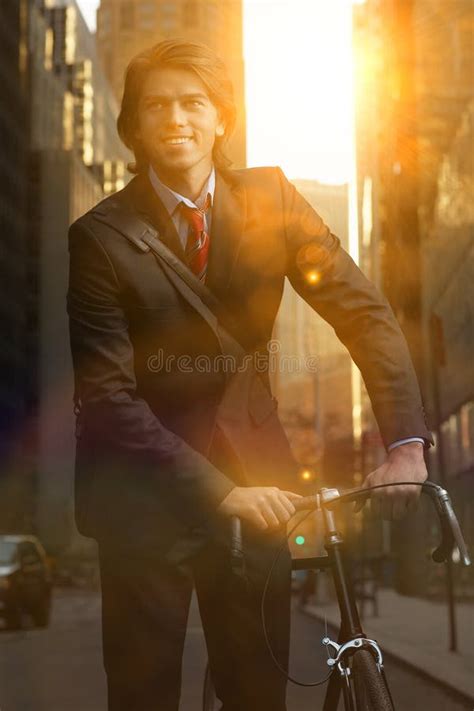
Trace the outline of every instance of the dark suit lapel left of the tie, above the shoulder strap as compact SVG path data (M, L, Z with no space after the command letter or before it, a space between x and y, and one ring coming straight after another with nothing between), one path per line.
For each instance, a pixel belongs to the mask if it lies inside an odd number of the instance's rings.
M174 226L168 210L156 194L147 175L137 175L130 183L130 200L133 207L153 227L158 230L160 239L171 249L177 257L185 261L184 249L178 232Z

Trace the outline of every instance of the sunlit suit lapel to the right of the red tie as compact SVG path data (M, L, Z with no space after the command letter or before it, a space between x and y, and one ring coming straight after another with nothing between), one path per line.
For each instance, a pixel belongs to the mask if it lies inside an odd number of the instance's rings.
M206 286L224 298L239 253L245 223L245 192L230 173L216 171Z

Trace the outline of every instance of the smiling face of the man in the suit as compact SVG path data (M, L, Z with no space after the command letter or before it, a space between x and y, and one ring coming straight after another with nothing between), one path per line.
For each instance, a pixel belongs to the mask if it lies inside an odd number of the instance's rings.
M209 172L224 123L203 82L187 69L158 68L145 79L135 135L159 172Z

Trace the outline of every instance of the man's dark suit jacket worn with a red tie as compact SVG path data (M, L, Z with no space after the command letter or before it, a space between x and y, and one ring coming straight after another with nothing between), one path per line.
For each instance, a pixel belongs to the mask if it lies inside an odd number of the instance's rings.
M146 216L184 258L146 176L106 200ZM212 436L222 372L170 360L156 366L167 356L212 357L219 345L155 256L92 211L71 226L69 248L71 350L82 400L76 522L111 545L167 550L188 527L212 518L239 474L225 443ZM309 271L319 280L308 280ZM339 239L280 169L218 172L206 283L249 352L266 353L285 276L349 349L385 444L415 435L431 441L398 323Z

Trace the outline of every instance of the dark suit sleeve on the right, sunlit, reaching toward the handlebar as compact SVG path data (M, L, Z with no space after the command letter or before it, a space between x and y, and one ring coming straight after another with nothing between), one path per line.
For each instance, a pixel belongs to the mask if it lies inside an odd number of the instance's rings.
M291 284L348 348L385 447L416 436L432 444L408 346L387 299L280 169L278 174Z

